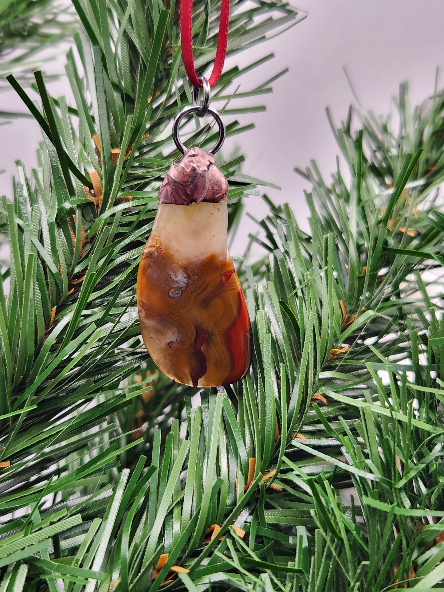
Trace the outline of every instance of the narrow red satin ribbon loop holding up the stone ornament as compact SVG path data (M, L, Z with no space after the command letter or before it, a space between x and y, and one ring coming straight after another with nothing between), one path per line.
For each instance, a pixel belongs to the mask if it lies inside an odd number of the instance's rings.
M192 85L202 88L202 81L197 77L194 67L192 49L192 8L193 0L181 0L181 43L182 59L184 60L185 72ZM220 78L224 67L225 55L227 53L228 24L230 17L230 0L221 0L220 25L217 38L216 57L214 59L213 72L208 79L210 86L214 86Z

